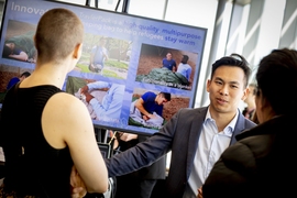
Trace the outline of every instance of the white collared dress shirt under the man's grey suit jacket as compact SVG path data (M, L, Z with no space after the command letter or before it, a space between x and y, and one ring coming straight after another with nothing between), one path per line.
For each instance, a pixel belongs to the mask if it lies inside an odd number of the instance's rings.
M230 145L238 117L239 111L223 131L218 131L208 109L184 198L197 198L198 188L202 186L222 152Z

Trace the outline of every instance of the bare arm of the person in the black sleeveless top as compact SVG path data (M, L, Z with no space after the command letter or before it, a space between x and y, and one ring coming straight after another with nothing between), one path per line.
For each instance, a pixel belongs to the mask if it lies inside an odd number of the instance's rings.
M107 191L107 168L86 106L72 95L56 94L48 100L42 120L44 129L61 134L58 136L68 145L87 191Z

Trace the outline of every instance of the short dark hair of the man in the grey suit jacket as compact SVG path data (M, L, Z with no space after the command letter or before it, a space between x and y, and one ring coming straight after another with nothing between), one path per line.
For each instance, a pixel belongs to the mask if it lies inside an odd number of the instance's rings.
M211 79L213 77L215 72L220 66L230 66L230 67L242 68L243 73L244 73L244 78L245 78L244 86L248 87L248 81L249 81L249 78L251 76L251 68L249 67L249 63L246 62L246 59L243 56L233 53L230 56L224 56L224 57L216 61L212 64L211 76L210 76Z

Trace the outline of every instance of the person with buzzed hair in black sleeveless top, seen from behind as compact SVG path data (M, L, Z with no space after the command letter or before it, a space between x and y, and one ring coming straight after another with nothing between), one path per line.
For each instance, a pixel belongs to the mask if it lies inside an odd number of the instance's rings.
M108 190L88 109L62 90L81 57L82 41L84 24L70 10L55 8L41 16L34 72L8 90L1 109L0 197L72 198Z

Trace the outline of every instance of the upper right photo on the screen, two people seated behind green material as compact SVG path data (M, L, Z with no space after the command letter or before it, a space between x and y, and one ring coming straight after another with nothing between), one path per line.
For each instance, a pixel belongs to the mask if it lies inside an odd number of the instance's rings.
M172 54L172 59L176 64L175 70L163 67L163 59L166 59L166 55L168 53ZM188 77L182 73L178 73L177 69L182 65L180 62L184 57L183 55L187 55L189 57L187 62L187 64L190 66ZM197 53L142 44L135 80L144 84L154 84L177 89L191 90L193 81L198 72L196 68L197 58Z

